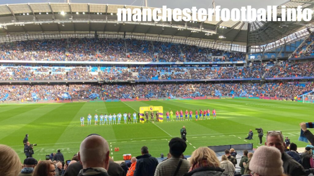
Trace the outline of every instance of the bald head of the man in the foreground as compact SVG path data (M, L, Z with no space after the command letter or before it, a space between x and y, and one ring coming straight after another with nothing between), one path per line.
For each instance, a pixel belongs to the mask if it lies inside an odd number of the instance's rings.
M78 159L82 163L84 169L101 167L108 170L108 142L103 137L97 135L86 137L79 148Z

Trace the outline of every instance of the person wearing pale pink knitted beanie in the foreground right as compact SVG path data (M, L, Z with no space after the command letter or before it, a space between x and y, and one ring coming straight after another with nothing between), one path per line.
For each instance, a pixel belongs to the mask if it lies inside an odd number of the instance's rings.
M287 176L284 174L281 154L277 148L261 146L257 148L250 161L253 176ZM294 176L294 175L291 175Z

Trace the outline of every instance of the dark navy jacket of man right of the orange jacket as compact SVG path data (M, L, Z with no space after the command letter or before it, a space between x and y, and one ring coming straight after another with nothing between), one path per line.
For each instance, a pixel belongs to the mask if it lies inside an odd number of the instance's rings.
M136 157L134 176L154 176L158 160L149 153Z

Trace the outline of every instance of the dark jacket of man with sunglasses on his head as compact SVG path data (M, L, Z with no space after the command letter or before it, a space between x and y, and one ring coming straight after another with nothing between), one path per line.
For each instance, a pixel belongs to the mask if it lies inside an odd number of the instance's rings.
M287 153L281 154L281 159L284 162L284 173L293 176L303 176L305 175L305 170L302 165L296 162Z

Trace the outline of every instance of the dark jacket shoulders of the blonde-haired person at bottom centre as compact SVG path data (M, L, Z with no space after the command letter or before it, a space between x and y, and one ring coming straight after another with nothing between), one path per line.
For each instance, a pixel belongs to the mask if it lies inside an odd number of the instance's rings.
M201 167L184 174L183 176L224 176L224 169L214 167Z

